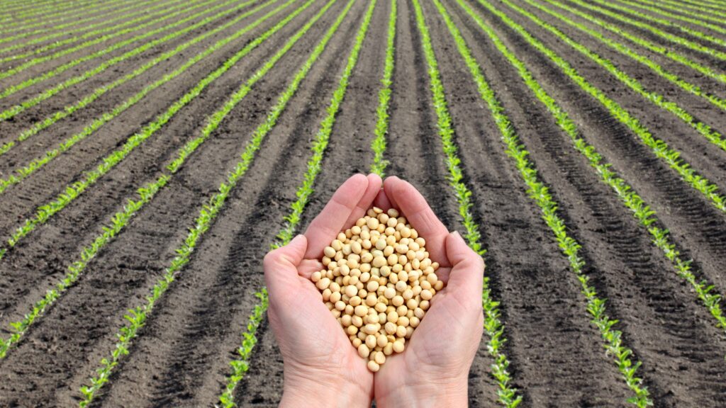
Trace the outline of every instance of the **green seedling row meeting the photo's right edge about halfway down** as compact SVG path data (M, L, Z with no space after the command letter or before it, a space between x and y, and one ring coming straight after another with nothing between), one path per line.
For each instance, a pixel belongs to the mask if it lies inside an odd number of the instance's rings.
M568 76L568 78L582 88L582 90L587 91L588 94L600 102L600 104L602 104L603 107L611 113L613 118L627 126L636 136L638 136L643 144L650 147L650 150L652 150L658 158L664 160L665 163L676 171L677 174L679 174L682 179L690 185L690 187L693 187L693 189L701 192L702 195L711 201L714 207L726 212L726 199L722 195L719 195L719 187L717 187L716 184L711 183L711 181L706 179L706 177L696 173L696 171L694 171L688 163L685 163L685 161L680 158L680 152L673 150L668 144L666 144L666 142L653 136L648 128L643 125L643 123L640 123L635 116L625 110L624 107L619 105L613 99L610 99L602 90L588 82L566 60L552 51L552 49L547 48L547 46L542 44L542 41L534 38L529 31L515 23L507 17L507 15L499 12L497 9L494 9L490 4L484 4L488 6L487 8L490 9L492 13L499 16L506 25L519 33L531 46L534 46L535 49L542 52L542 54L554 62L555 65L557 65L563 73Z

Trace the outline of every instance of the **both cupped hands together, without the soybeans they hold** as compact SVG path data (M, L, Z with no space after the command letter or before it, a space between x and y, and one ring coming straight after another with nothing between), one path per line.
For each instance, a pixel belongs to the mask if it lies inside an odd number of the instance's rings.
M383 189L381 188L383 184ZM322 250L372 205L397 208L426 240L446 282L406 350L374 375L310 281ZM468 372L481 340L484 262L450 234L406 181L355 175L335 192L304 235L267 254L269 322L285 362L281 407L465 407Z

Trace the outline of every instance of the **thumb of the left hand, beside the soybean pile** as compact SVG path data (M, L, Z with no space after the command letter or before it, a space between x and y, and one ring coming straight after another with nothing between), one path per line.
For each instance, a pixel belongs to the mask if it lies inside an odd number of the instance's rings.
M265 284L270 298L285 293L285 287L298 283L298 265L303 261L308 240L299 234L287 245L269 251L264 258Z

